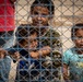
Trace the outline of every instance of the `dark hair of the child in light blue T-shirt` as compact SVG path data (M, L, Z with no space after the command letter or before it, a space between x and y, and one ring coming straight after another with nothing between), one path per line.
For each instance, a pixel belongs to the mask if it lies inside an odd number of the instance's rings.
M78 30L83 30L83 23L78 23L78 24L75 24L75 25L73 25L72 26L72 28L71 28L71 39L73 40L75 37L74 37L74 35L75 35L75 32L78 31Z

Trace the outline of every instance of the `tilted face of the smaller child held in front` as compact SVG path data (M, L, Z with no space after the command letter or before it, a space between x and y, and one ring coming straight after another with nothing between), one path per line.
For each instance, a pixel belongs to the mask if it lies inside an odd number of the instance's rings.
M37 43L37 34L34 33L25 38L20 45L25 49L35 49L38 45Z

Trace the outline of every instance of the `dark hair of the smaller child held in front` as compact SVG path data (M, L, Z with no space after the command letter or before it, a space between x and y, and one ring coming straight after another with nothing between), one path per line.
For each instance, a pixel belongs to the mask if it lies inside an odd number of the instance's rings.
M38 30L27 24L21 24L15 32L16 40L20 43L34 33L38 35Z

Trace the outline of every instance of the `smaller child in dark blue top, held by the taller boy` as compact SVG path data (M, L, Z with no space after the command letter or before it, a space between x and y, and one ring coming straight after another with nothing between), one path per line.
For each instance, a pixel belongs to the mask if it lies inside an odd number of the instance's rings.
M28 28L28 25L20 25L17 27L16 44L9 48L9 54L19 52L21 57L16 68L15 82L27 82L27 79L31 77L27 70L34 68L34 66L32 67L33 63L35 66L38 65L38 61L29 56L31 51L36 51L37 49L37 35L36 28Z

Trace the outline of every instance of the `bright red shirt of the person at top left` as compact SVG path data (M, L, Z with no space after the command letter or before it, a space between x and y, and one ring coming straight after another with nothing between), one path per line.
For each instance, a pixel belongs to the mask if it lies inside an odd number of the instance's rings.
M10 0L0 0L0 32L14 28L14 4Z

